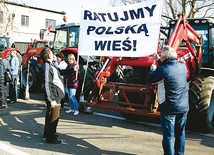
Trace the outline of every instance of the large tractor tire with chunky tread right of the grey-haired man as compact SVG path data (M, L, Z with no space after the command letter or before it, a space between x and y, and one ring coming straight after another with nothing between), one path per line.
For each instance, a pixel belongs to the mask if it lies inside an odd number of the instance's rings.
M187 128L208 133L214 126L214 77L195 78L190 83Z

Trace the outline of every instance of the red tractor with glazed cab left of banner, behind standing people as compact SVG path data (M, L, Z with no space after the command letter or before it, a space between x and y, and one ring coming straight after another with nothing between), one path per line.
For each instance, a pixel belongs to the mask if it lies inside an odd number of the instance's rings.
M54 33L53 42L48 42L44 39L44 33L46 29L40 30L40 40L35 40L33 44L30 44L27 51L23 54L22 62L22 76L21 86L25 91L26 85L29 87L30 92L38 92L42 87L41 71L42 60L39 54L43 47L49 46L55 53L62 52L65 55L65 60L68 54L72 53L76 56L78 53L78 41L79 41L79 24L67 23L60 24L55 27L55 30L50 30L50 33ZM94 69L97 64L97 60L94 57L79 57L79 66L81 69L81 75L85 72L85 66L88 63L86 79L91 81L94 76ZM27 76L28 75L28 76ZM87 90L85 94L89 93L92 89L91 82L85 84ZM81 86L79 87L77 95L79 96Z

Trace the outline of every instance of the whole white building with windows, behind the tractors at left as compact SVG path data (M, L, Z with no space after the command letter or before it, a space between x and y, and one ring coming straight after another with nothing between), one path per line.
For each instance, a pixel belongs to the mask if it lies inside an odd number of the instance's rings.
M8 35L11 43L15 43L20 52L25 52L27 44L34 39L39 39L41 29L49 25L62 24L66 12L57 12L17 4L14 2L1 2L0 5L0 34ZM53 34L45 34L45 39L53 40Z

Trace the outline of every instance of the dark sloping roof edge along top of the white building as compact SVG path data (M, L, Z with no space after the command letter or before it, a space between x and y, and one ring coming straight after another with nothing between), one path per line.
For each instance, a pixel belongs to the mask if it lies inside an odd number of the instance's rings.
M10 5L16 5L19 7L24 7L24 8L30 8L30 9L36 9L36 10L41 10L41 11L46 11L46 12L52 12L52 13L56 13L56 14L61 14L61 15L65 15L66 12L65 11L54 11L54 10L48 10L48 9L43 9L43 8L37 8L37 7L33 7L33 6L29 6L26 4L19 4L19 3L15 3L15 2L4 2L5 4L10 4Z

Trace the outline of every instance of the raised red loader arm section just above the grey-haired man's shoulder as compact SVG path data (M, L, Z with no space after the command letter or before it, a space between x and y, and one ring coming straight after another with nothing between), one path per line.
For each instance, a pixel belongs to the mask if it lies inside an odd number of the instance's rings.
M179 47L182 42L185 42L186 50ZM193 44L194 46L192 46ZM177 51L178 60L186 61L188 78L200 71L202 37L189 25L183 14L178 15L178 20L167 45Z

